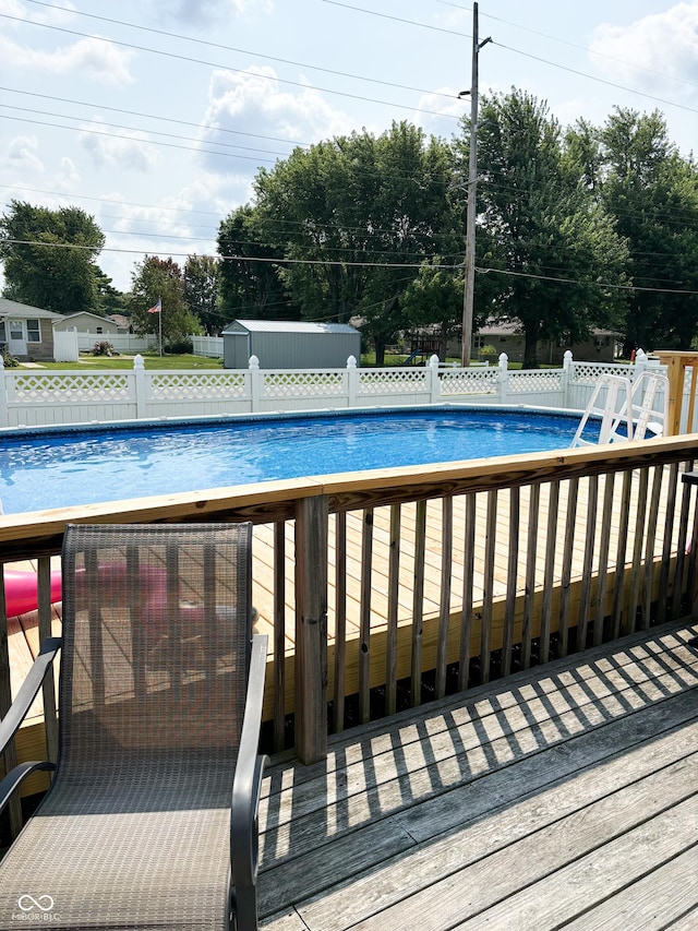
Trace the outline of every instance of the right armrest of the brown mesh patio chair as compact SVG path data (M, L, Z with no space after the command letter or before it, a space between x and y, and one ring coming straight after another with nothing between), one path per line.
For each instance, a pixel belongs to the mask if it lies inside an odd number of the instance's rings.
M230 866L236 898L240 905L242 905L240 902L241 890L254 887L257 875L257 810L262 790L262 774L267 763L267 757L258 754L266 649L267 637L255 634L252 637L248 694L236 775L232 783Z

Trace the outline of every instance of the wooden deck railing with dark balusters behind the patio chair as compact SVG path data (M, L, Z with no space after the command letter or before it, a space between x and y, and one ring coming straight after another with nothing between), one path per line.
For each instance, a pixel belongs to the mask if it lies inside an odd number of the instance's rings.
M0 563L38 560L46 635L49 560L67 523L252 521L273 553L266 565L255 553L270 590L266 717L280 748L293 713L298 755L311 762L328 730L400 702L686 614L695 509L681 474L697 450L684 435L3 515ZM11 692L3 609L0 597L0 714ZM48 684L50 756L52 695Z

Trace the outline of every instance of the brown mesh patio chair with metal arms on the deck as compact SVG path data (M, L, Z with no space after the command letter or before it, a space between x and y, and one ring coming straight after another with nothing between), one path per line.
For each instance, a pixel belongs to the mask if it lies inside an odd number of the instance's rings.
M256 928L251 526L70 525L62 564L59 759L0 861L0 928ZM44 645L0 751L60 646ZM0 805L50 765L5 776Z

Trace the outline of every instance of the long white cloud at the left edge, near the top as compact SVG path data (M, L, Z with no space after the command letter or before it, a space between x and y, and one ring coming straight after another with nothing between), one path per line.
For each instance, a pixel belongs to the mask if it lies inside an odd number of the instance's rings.
M79 75L104 84L131 84L129 70L132 52L117 48L97 36L80 39L72 45L43 51L0 36L0 59L14 72L36 74Z

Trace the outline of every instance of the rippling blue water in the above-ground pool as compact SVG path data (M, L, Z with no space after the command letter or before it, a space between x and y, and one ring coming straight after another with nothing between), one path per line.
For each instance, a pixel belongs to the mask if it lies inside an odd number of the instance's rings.
M0 435L5 513L569 446L578 417L380 410Z

